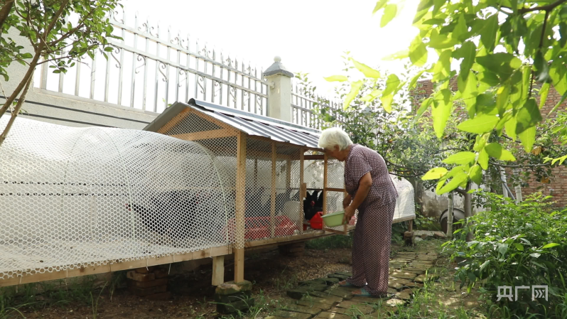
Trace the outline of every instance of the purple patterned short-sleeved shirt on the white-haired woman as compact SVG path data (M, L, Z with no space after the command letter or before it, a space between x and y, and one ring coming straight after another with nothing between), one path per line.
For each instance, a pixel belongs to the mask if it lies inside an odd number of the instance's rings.
M368 172L372 175L372 187L359 210L365 210L373 204L385 205L398 198L398 192L390 178L384 158L370 148L359 144L352 145L345 163L345 188L353 199L357 193L360 178Z

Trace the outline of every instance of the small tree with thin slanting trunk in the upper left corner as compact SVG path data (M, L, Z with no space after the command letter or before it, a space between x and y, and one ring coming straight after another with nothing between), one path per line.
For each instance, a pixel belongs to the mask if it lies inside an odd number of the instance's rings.
M119 6L119 0L11 0L2 1L0 7L0 76L9 80L8 67L13 62L28 67L16 89L6 95L0 107L0 117L13 107L11 119L0 134L0 146L18 116L32 82L33 70L48 63L54 73L65 73L68 67L81 63L88 55L94 58L95 50L107 52L108 38L112 34L108 16ZM18 31L31 44L31 52L16 40L4 35ZM19 98L18 98L19 96ZM16 98L18 102L16 103Z

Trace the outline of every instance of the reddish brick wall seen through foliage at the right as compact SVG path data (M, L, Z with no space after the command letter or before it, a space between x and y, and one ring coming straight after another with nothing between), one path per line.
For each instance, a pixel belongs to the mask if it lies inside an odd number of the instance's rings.
M420 91L418 93L419 97L428 97L433 92L433 83L430 80L420 81ZM453 90L457 90L457 81L456 77L451 80L450 87ZM534 85L535 88L539 88L539 85ZM425 91L425 92L423 92ZM545 118L546 115L551 111L551 109L561 101L561 94L559 94L554 87L549 89L549 94L547 96L546 104L544 107L541 108L541 115ZM538 97L539 103L539 97ZM565 109L567 102L563 102L560 109ZM427 112L428 116L430 114ZM551 114L551 117L555 117L555 114ZM554 196L554 200L557 202L559 207L567 207L567 167L560 166L553 168L551 170L551 178L549 180L544 180L546 183L541 183L541 180L536 180L534 176L531 176L529 180L527 180L527 185L522 187L522 196L525 198L526 195L531 193L541 191L544 195L551 195ZM507 174L512 173L512 171L508 171ZM514 191L513 185L509 184L509 187L512 191ZM515 196L515 195L514 195Z

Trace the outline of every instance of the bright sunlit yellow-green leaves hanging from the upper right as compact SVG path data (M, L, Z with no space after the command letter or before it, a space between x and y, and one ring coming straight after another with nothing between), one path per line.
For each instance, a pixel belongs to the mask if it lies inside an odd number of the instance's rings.
M446 154L444 163L453 168L432 178L438 180L438 193L457 188L467 190L471 181L478 183L482 171L489 167L490 158L516 161L501 139L514 143L519 139L526 153L533 150L539 134L537 126L543 119L540 108L550 87L553 85L563 95L550 113L567 98L564 3L564 0L421 0L414 18L419 34L409 43L408 50L390 57L409 60L411 65L421 68L411 80L401 80L393 74L380 77L378 70L350 58L366 80L385 82L379 90L367 94L365 102L372 104L379 99L381 109L387 114L395 113L392 100L396 94L414 90L421 77L431 76L433 94L423 100L416 117L431 112L431 126L438 139L446 135L452 123L451 114L461 109L453 107L455 103L463 104L466 116L455 124L458 131L474 134L471 135L473 147ZM396 16L398 6L392 0L377 2L374 13L382 13L382 27ZM433 65L426 65L431 53L436 53L438 59ZM451 70L453 61L460 62L458 72ZM358 107L353 100L365 90L364 80L345 81L340 75L328 80L343 81L342 86L350 86L349 93L343 97L343 109ZM455 92L451 90L452 80L457 82ZM539 103L534 94L536 85L541 85ZM555 163L558 161L561 160Z

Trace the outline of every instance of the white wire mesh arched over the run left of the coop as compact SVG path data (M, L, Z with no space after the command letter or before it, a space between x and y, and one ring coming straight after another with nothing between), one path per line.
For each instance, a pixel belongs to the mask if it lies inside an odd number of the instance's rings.
M1 279L229 244L230 179L198 143L18 118L0 162Z

